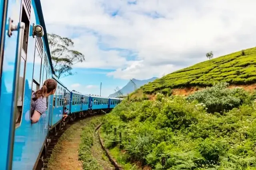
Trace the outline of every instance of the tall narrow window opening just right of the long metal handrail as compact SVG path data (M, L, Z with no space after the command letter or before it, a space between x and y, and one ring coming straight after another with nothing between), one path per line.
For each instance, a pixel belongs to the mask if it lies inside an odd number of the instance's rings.
M27 48L28 48L28 35L29 35L29 22L30 22L30 11L31 11L31 3L26 2L26 0L22 0L22 10L20 14L20 21L25 23L24 29L24 38L23 38L23 46L21 50L21 57L20 57L20 75L18 78L18 93L17 93L17 112L15 113L16 116L16 127L20 126L21 119L22 119L22 106L23 106L23 99L24 99L24 85L25 85L25 74L26 74L26 59L27 59ZM16 97L16 96L15 96Z

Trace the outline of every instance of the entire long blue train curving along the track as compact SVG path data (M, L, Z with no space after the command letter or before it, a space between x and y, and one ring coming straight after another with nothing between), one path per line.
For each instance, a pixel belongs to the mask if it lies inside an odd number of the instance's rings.
M0 169L41 169L50 134L58 133L64 108L68 122L108 113L122 99L68 89L55 75L40 0L0 0ZM58 87L47 110L31 123L32 92L54 78Z

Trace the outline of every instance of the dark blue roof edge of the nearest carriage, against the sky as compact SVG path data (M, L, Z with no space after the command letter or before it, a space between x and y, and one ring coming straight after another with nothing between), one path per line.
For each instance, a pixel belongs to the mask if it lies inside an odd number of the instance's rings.
M41 5L40 0L35 0L35 4L36 4L36 11L37 11L37 14L39 17L40 24L44 28L43 38L44 38L47 56L49 57L49 63L50 63L51 69L52 69L52 73L55 74L54 68L52 66L52 57L51 57L51 52L50 52L50 47L49 47L49 42L48 42L48 37L47 37L46 26L45 26L45 22L44 22L44 15L42 12L42 5Z

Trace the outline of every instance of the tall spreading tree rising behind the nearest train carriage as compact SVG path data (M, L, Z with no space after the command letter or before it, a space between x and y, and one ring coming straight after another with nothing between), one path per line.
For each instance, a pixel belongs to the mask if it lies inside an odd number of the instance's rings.
M72 49L74 42L67 37L48 34L48 41L56 76L63 78L73 75L72 66L76 63L82 63L84 61L84 55Z

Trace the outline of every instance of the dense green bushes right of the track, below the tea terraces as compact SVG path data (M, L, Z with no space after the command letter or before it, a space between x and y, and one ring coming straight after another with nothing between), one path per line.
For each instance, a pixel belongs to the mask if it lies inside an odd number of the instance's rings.
M254 95L226 86L188 98L158 93L154 101L124 100L104 117L106 146L158 170L255 169Z

